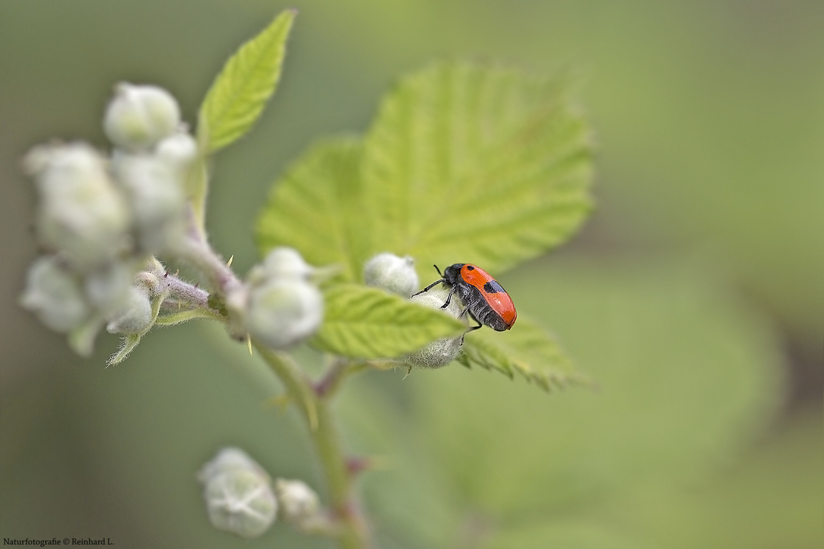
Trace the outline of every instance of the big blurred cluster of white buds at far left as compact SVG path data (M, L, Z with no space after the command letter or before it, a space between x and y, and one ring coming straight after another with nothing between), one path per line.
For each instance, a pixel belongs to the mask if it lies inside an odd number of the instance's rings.
M104 129L115 145L109 159L73 142L34 147L23 161L37 184L47 254L31 266L21 305L70 333L84 355L104 324L139 333L151 323L149 291L135 275L184 238L185 184L198 152L175 98L157 86L116 86Z

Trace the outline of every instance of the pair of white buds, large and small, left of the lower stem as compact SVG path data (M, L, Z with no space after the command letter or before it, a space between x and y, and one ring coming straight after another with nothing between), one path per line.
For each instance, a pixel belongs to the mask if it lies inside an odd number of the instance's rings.
M259 537L281 519L303 532L330 528L317 494L305 482L277 479L237 448L224 448L201 468L209 521L215 528L242 537Z

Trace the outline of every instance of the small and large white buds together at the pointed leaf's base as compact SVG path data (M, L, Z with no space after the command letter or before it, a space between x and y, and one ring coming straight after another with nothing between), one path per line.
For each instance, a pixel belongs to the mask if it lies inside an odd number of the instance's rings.
M267 347L292 347L323 320L323 296L311 281L315 268L292 248L275 248L252 268L245 300L246 331Z

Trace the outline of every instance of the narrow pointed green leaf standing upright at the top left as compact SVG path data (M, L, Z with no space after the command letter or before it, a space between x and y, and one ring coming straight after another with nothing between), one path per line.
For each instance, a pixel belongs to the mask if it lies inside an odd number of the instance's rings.
M286 39L297 11L275 17L243 44L223 67L206 94L198 116L198 141L212 153L248 132L274 93L283 66Z

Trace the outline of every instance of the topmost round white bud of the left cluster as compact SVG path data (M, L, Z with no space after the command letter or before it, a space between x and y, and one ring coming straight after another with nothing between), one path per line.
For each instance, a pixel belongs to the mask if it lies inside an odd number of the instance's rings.
M147 151L174 133L179 124L180 107L168 91L121 82L106 109L103 129L115 146Z

